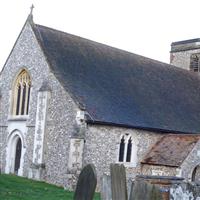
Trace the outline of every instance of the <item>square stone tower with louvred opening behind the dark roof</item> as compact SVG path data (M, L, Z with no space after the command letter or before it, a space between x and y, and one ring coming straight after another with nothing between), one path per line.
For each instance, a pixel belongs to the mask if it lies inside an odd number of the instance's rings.
M200 72L200 38L173 42L170 64L194 72Z

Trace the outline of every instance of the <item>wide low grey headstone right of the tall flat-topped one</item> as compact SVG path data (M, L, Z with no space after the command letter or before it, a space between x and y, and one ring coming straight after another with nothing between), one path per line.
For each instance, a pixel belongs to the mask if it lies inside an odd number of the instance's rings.
M129 200L163 200L158 186L139 180L132 183Z

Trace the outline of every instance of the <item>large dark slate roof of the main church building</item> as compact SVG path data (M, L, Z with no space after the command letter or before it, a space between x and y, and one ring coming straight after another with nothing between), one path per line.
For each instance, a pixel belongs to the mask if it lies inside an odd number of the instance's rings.
M88 122L200 133L198 75L41 25L32 27L52 72L86 109Z

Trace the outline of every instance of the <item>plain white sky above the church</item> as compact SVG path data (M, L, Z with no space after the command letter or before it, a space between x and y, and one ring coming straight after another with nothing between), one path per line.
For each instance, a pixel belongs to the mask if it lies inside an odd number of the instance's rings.
M171 42L200 37L199 0L2 0L0 69L32 3L37 24L167 63Z

